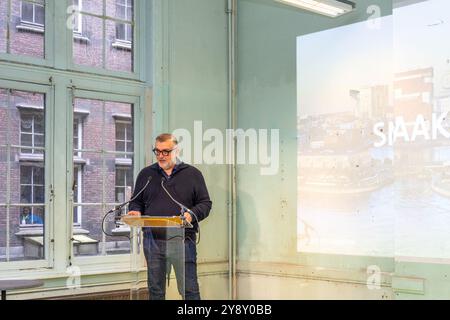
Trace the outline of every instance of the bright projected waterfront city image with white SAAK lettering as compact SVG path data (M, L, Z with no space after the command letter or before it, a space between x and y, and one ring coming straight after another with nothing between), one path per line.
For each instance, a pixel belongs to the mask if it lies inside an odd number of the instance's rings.
M298 251L450 258L448 38L444 0L297 38Z

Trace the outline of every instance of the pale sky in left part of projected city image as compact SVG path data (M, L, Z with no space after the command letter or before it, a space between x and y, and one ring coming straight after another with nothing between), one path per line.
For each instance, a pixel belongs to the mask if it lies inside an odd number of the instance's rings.
M392 17L298 37L297 62L300 116L352 110L349 89L391 82Z

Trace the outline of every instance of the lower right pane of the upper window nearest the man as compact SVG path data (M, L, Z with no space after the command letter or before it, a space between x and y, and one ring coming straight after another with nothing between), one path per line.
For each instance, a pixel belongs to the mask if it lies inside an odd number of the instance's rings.
M131 25L106 21L106 66L114 71L133 71L133 38Z

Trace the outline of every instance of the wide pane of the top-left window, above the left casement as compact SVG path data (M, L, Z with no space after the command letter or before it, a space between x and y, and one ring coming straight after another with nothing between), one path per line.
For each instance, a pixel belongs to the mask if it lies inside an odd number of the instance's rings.
M2 1L3 2L3 1ZM43 1L39 1L43 3ZM44 7L33 10L33 4L22 1L11 1L10 53L16 55L44 58ZM39 7L39 5L36 5Z

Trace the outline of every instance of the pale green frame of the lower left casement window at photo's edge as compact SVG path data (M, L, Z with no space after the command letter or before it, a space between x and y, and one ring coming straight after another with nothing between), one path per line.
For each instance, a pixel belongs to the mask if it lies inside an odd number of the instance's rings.
M44 94L44 117L45 117L45 152L44 152L44 221L43 226L43 239L44 239L44 258L39 260L23 260L23 261L5 261L0 263L0 271L10 270L10 269L48 269L53 267L53 257L54 257L54 245L51 239L54 238L54 225L53 225L53 201L52 201L52 190L53 190L53 146L52 146L52 134L53 134L53 123L51 123L50 118L54 111L54 100L53 100L53 87L45 83L29 83L29 82L19 82L13 80L4 80L0 77L0 88L17 90L17 91L27 91L32 93ZM11 106L9 106L11 107ZM22 164L21 164L22 165ZM9 175L9 173L7 173ZM19 181L19 186L20 186ZM9 186L7 186L7 189ZM9 191L10 192L10 191ZM7 191L8 194L8 191ZM8 199L6 199L8 202ZM27 205L26 203L19 202L18 204L9 204L6 206L7 214L8 207L22 207ZM26 225L30 227L31 225ZM20 221L19 221L20 227ZM11 236L11 231L6 231L7 237ZM9 241L8 241L9 242ZM7 243L8 245L8 243Z

